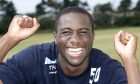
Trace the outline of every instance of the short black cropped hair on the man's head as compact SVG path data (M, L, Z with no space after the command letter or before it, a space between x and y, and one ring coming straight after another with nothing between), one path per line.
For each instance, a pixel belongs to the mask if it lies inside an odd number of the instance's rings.
M91 14L89 14L85 9L77 7L77 6L72 6L72 7L68 7L65 8L64 10L62 10L60 13L58 13L55 17L55 22L54 22L54 31L57 32L57 26L58 26L58 22L59 19L62 15L68 14L68 13L80 13L80 14L84 14L87 15L90 22L91 22L91 27L92 27L92 31L94 30L94 21L93 21L93 17L91 16Z

